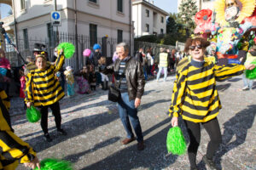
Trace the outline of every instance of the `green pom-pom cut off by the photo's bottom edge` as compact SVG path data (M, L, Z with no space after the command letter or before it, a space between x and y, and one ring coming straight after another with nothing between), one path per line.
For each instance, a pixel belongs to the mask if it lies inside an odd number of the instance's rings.
M61 161L53 158L46 158L40 162L41 170L73 170L69 161ZM36 167L34 170L38 170Z

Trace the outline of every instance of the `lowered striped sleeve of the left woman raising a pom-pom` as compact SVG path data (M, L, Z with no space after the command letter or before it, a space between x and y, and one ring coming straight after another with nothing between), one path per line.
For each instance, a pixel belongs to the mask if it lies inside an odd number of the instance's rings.
M26 89L25 89L25 101L33 103L33 83L32 83L32 72L26 75Z

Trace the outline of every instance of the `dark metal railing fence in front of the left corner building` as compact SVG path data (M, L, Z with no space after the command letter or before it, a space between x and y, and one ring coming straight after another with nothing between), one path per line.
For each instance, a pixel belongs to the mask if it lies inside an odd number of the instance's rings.
M83 52L85 48L90 48L90 37L87 35L78 35L78 44L76 48L76 53L74 54L72 59L65 59L65 65L70 65L73 67L75 71L81 69L83 67L84 63L84 56ZM71 42L75 45L76 42L76 36L74 34L70 33L65 33L65 32L60 32L58 35L58 41L57 41L57 36L45 39L38 39L38 38L30 38L30 39L24 39L22 37L18 37L18 48L20 51L21 56L26 59L26 56L32 56L32 51L34 48L34 43L43 43L46 45L47 52L49 54L49 60L53 59L53 54L54 54L54 48L61 42ZM124 40L124 42L130 44L130 41ZM96 43L100 44L102 46L102 37L97 37ZM118 43L117 39L115 38L107 38L106 40L106 57L107 58L112 58L113 52L115 51L115 47ZM9 45L5 45L5 51L6 51L6 56L9 59L10 63L12 66L19 66L22 63L21 59L17 57L17 54L15 53L15 49Z

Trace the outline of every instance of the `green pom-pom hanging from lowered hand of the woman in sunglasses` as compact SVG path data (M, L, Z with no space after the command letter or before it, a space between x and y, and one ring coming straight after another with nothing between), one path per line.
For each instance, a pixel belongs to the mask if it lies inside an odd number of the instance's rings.
M181 156L186 152L186 141L180 127L172 127L167 133L166 146L168 152Z

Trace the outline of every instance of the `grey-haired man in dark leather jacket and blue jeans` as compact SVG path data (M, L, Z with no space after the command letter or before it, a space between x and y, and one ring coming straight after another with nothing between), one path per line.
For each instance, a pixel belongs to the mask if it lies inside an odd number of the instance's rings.
M120 89L121 93L118 101L119 116L127 133L127 137L122 143L129 144L136 139L131 130L132 125L137 135L137 150L143 150L142 127L137 116L137 107L141 104L145 86L143 66L137 59L128 56L129 47L125 42L119 43L116 51L119 59L109 65L104 73L113 73L115 85L118 86L119 84L119 87L116 87Z

